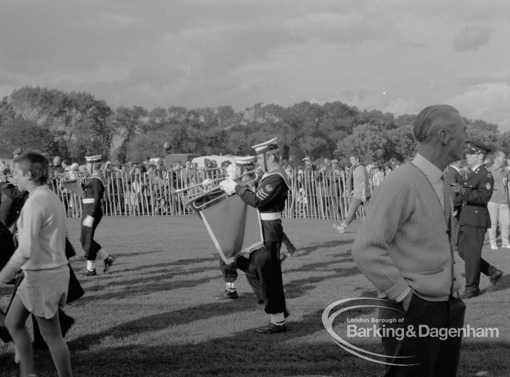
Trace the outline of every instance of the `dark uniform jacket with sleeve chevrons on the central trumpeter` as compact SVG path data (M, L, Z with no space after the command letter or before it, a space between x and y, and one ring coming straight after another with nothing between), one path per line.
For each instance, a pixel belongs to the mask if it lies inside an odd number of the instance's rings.
M285 208L290 183L283 168L265 173L255 192L237 185L236 193L244 203L259 209L264 242L282 242L283 228L280 212Z

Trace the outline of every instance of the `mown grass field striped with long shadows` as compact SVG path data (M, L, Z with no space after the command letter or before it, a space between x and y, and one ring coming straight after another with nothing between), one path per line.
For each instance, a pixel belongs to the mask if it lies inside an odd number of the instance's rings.
M67 221L78 256L80 221ZM356 268L350 248L359 228L346 235L331 221L284 220L286 233L298 248L283 264L288 332L260 335L269 322L240 274L238 300L218 301L224 289L218 254L196 216L105 218L96 240L117 260L111 272L80 276L85 296L66 308L77 322L66 336L75 376L375 376L382 366L358 358L335 344L322 324L324 309L349 297L375 297L373 286ZM483 255L510 272L510 250ZM456 266L464 268L457 256ZM99 270L98 270L99 271ZM99 272L102 272L99 271ZM489 286L482 275L481 287ZM466 325L498 328L498 338L463 341L460 376L487 371L510 376L510 275L494 291L466 302ZM2 295L9 289L2 289ZM8 301L0 300L0 307ZM375 310L350 312L349 317L377 317ZM345 328L340 316L335 328ZM30 322L30 320L29 320ZM379 339L350 339L353 345L381 353ZM17 375L11 345L0 345L0 375ZM36 354L39 376L56 375L47 351Z

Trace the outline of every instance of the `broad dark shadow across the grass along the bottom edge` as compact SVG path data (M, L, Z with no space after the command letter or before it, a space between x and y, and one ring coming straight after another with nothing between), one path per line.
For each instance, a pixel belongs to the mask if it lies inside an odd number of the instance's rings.
M338 347L333 339L317 341L311 346L301 339L320 331L315 316L289 325L285 334L260 335L253 330L215 338L196 344L156 345L129 344L108 349L71 349L73 375L81 376L371 376L382 375L379 364L355 357ZM363 349L382 353L378 341ZM486 349L483 365L473 359L480 349ZM463 344L458 375L475 375L485 370L488 375L509 375L510 363L506 355L510 346L504 342ZM246 359L245 355L250 355ZM16 375L12 355L0 355L1 375ZM55 375L49 353L36 355L39 375ZM285 360L285 362L282 362Z

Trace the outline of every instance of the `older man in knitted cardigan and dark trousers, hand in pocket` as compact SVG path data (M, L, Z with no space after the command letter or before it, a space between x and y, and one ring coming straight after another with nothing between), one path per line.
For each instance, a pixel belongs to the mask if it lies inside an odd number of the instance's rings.
M379 318L401 321L390 326L405 332L424 325L458 329L464 325L466 306L453 266L453 205L443 170L463 158L469 137L461 115L447 105L423 109L414 136L418 154L374 191L352 256L379 298L388 300L388 308L379 309ZM389 356L387 376L456 375L461 336L442 340L406 333L381 339Z

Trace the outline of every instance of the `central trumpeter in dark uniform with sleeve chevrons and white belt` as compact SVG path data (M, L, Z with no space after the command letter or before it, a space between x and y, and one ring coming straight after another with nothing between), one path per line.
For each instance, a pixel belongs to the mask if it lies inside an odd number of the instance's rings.
M227 193L237 193L243 202L260 211L264 247L252 252L249 259L239 258L237 267L246 273L249 284L264 302L264 311L271 318L271 323L257 329L257 332L283 333L287 331L285 317L288 312L280 265L280 247L283 240L280 213L285 207L290 183L287 173L280 167L280 151L276 138L252 148L258 163L266 172L259 181L257 190L253 192L232 179L222 181L220 187Z

